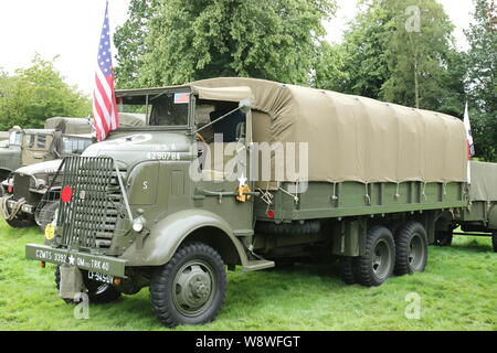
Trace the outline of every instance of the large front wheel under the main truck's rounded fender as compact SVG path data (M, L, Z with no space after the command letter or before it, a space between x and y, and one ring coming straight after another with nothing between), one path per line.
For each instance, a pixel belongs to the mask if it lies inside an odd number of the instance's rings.
M221 256L203 243L181 246L150 280L150 302L167 327L214 320L224 301L226 271Z

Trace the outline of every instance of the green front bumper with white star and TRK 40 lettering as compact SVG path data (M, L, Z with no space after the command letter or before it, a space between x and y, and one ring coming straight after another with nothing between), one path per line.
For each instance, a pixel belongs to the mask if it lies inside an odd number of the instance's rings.
M127 260L112 256L93 255L67 249L55 249L47 245L28 244L25 257L30 260L45 261L56 265L68 264L88 271L125 278Z

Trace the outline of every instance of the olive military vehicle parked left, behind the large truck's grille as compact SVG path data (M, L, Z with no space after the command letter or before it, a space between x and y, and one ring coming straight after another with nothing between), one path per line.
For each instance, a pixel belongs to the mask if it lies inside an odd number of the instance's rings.
M120 126L142 126L144 119L144 116L136 114L123 115ZM59 172L56 180L54 176L62 158L80 156L96 141L88 119L51 118L46 120L45 127L45 130L24 130L22 162L25 167L11 172L1 183L0 211L12 227L32 226L35 223L43 231L52 222L51 217L57 208L62 173ZM39 207L47 190L56 197L51 197L43 207Z

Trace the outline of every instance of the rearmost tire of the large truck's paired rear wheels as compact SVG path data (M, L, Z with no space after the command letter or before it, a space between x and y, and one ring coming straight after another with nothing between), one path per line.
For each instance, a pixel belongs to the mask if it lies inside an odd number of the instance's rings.
M408 222L395 236L395 275L424 271L427 253L427 237L423 225Z

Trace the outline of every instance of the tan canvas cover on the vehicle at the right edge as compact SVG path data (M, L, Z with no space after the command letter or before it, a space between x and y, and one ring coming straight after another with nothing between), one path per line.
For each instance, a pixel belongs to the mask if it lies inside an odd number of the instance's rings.
M470 162L470 201L497 201L497 164Z

